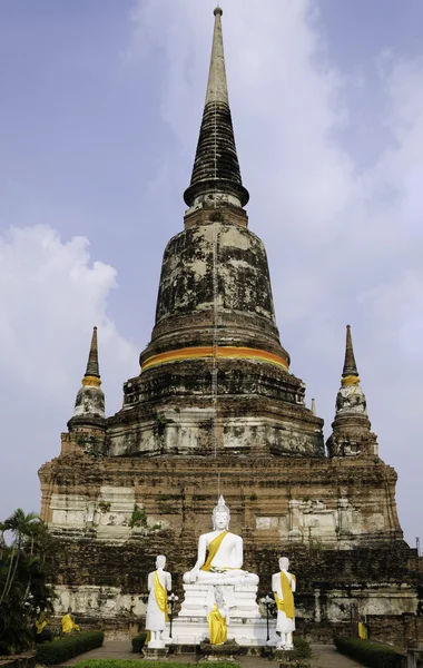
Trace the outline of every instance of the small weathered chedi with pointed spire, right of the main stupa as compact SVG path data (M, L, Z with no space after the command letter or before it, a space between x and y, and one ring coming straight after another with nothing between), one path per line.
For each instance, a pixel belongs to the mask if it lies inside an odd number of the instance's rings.
M326 443L331 456L377 454L376 435L371 432L366 397L360 386L351 325L346 325L344 369L332 429Z

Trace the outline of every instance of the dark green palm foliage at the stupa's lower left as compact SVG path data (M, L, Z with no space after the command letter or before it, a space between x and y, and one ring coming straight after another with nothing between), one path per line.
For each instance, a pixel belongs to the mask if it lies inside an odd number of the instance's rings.
M46 566L52 549L53 540L36 513L18 508L0 522L0 655L30 647L39 611L52 611L55 593Z

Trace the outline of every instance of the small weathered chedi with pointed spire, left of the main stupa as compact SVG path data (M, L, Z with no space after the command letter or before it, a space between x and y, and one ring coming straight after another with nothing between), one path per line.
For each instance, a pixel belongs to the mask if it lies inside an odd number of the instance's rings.
M100 385L97 327L94 327L87 370L82 379L82 386L77 394L73 416L68 422L69 431L86 428L105 429L105 394Z

